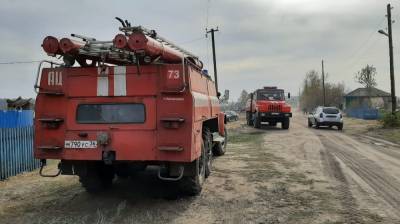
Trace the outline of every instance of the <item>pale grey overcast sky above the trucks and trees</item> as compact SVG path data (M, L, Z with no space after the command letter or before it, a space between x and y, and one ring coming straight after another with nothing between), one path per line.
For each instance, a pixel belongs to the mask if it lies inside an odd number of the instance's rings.
M354 74L377 68L378 88L390 91L384 0L21 1L0 7L0 63L48 58L47 35L71 33L111 40L115 16L144 25L200 56L212 72L210 39L216 33L220 89L236 100L242 89L276 85L297 95L304 75L321 70L328 81L360 87ZM394 59L400 91L400 1L393 1ZM0 64L0 98L34 97L37 63Z

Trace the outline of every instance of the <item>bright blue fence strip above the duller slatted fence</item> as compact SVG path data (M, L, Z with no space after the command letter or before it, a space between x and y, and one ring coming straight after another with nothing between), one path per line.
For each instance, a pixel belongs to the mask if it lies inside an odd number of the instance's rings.
M27 127L32 125L32 110L0 110L0 128Z

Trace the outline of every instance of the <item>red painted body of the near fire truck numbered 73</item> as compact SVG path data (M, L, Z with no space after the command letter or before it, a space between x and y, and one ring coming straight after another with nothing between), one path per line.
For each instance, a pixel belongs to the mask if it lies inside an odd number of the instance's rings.
M86 124L76 119L81 104L115 103L144 105L145 121ZM102 160L99 144L88 149L64 144L96 141L99 133L107 133L106 147L115 151L116 161L191 162L200 156L203 122L219 113L214 83L189 64L142 65L140 73L134 65L46 68L35 106L34 153L38 159Z

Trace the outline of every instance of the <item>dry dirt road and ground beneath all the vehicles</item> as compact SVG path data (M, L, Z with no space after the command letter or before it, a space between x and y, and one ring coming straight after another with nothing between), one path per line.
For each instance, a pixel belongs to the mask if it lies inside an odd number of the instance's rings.
M76 177L0 182L0 223L400 223L400 147L350 132L229 125L228 153L198 197L151 170L86 193ZM52 166L55 169L55 165Z

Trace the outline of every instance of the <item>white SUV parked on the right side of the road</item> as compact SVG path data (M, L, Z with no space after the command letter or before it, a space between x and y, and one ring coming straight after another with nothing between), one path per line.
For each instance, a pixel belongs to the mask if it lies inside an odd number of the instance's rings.
M336 126L338 130L343 129L343 115L336 107L317 107L308 115L308 127L315 125L320 126Z

